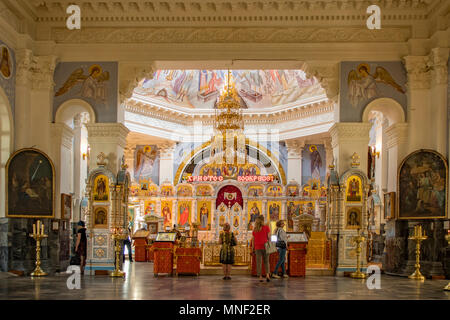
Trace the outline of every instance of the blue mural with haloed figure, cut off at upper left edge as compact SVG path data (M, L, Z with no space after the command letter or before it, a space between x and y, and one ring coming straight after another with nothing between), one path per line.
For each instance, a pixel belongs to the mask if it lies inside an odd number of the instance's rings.
M5 91L14 116L16 103L16 57L14 51L0 40L0 87Z

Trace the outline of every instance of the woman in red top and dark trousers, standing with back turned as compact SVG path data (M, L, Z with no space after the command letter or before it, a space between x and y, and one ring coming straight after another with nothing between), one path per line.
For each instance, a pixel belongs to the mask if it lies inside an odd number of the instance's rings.
M269 255L266 253L265 243L269 241L270 229L264 225L264 216L260 215L256 218L255 228L253 229L252 249L256 255L256 270L259 281L263 282L262 278L262 262L264 260L264 267L266 269L266 281L270 282L270 268Z

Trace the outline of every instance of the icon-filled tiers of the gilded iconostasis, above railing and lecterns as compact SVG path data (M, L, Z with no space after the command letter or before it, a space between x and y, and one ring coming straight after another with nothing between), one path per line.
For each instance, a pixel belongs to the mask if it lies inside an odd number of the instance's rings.
M258 216L264 216L271 230L278 220L285 220L286 231L294 232L296 217L308 215L320 219L320 210L326 203L326 188L320 180L310 180L300 186L289 183L217 183L169 182L158 186L142 180L131 187L130 206L133 207L133 225L137 229L150 216L164 219L164 229L198 228L199 241L217 241L225 223L230 224L237 239L245 242Z

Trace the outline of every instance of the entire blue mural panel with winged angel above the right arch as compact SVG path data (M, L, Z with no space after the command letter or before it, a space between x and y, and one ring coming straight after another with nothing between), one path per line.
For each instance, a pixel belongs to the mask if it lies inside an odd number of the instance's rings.
M386 97L396 100L406 113L406 71L401 61L342 62L340 121L361 121L365 106Z

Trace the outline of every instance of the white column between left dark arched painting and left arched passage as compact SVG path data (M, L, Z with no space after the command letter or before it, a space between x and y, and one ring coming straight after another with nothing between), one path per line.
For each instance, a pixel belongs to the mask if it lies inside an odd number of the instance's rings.
M55 166L55 218L61 218L61 193L73 192L72 145L73 130L64 123L52 123L52 160Z

